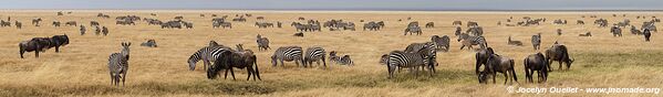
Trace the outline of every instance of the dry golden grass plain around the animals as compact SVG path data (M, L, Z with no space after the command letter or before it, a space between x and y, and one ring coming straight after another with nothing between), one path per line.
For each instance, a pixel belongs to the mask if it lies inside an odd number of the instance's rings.
M635 15L663 17L660 12L307 12L307 11L73 11L64 17L55 15L55 10L42 11L1 11L3 20L11 17L23 22L23 29L0 28L0 96L660 96L652 94L509 94L505 88L516 87L655 87L663 85L663 42L661 33L653 33L651 42L643 36L632 35L624 29L624 36L613 37L608 28L592 24L589 15L608 19L611 23L630 19L640 26L648 19ZM110 14L111 19L96 18L99 12ZM152 17L149 13L157 13ZM206 17L199 17L200 13ZM232 29L213 29L211 13L229 15L252 13L247 22L232 22ZM612 17L612 13L626 17ZM194 22L194 29L170 30L158 25L147 25L144 21L136 25L116 25L117 15L135 14L162 21L183 15L185 21ZM258 29L253 26L255 17L266 17L267 22L281 21L283 29ZM538 26L498 26L496 23L514 17L547 18ZM581 18L580 15L588 15ZM304 37L294 37L291 22L303 22L303 17L327 21L342 19L358 24L358 31L307 32ZM403 29L412 17L419 24L435 22L435 28L424 29L423 35L403 35ZM42 18L41 26L30 25L33 18ZM397 21L403 19L404 21ZM566 19L567 25L551 24L552 20ZM87 34L80 35L77 26L51 25L53 20L61 22L77 21L87 26ZM100 21L110 29L108 36L94 35L90 21ZM362 31L365 21L385 21L381 31ZM453 35L455 20L477 21L484 26L489 46L496 53L516 61L519 83L503 85L504 77L498 75L497 84L479 85L474 74L474 51L459 50L459 43ZM578 25L576 20L587 24ZM13 23L12 23L13 25ZM659 24L660 25L660 24ZM662 28L662 26L659 26ZM466 28L463 26L465 30ZM557 35L556 30L563 34ZM630 29L630 28L629 28ZM592 32L591 37L578 34ZM68 34L70 44L41 53L18 54L18 43L37 36ZM535 51L530 44L531 35L542 33L542 50ZM255 36L262 34L271 41L272 50L257 51ZM386 67L377 62L382 54L403 50L407 44L429 41L432 35L449 35L450 52L438 52L437 73L433 77L415 77L410 72L397 73L396 78L387 79ZM507 37L522 41L524 46L507 45ZM158 47L138 46L154 39ZM188 71L186 60L210 41L225 45L245 44L258 55L262 80L245 80L246 71L236 69L237 80L207 79L203 63L196 71ZM557 71L550 74L545 84L525 82L522 60L529 54L542 52L555 41L569 47L576 62L570 71ZM107 57L121 51L121 42L132 42L130 69L126 86L112 86L108 76ZM355 66L334 65L328 62L329 69L297 67L286 63L286 67L272 67L269 56L279 46L300 45L302 47L322 46L328 52L352 56Z

